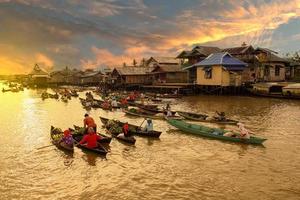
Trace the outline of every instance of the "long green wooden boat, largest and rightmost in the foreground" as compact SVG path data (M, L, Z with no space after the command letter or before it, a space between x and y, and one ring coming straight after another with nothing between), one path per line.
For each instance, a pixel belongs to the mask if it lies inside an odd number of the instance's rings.
M180 129L183 132L208 137L212 139L231 141L231 142L240 142L246 144L262 144L267 139L251 136L250 139L239 138L239 137L228 137L223 136L224 133L228 132L224 129L219 128L210 128L203 125L190 124L180 120L168 119L167 122L172 126ZM239 133L235 133L240 135Z

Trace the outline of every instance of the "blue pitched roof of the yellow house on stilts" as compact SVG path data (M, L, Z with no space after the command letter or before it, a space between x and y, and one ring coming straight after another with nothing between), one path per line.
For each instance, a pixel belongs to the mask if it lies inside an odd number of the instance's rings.
M243 70L246 66L247 63L244 63L243 61L240 61L237 58L234 58L232 55L229 53L213 53L210 54L207 58L204 60L193 64L189 67L186 67L186 69L190 69L192 67L204 67L204 66L213 66L213 65L222 65L226 67L228 70Z

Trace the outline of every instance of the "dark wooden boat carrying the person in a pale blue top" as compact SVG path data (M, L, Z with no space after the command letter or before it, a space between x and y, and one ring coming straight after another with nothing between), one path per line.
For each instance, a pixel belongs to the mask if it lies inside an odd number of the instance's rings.
M110 120L108 118L104 118L104 117L100 117L100 120L102 122L102 124L106 125L107 122ZM124 126L124 122L120 122L117 120L114 120L115 122L117 122L119 124L119 126ZM141 129L141 127L133 125L133 124L128 124L129 125L129 133L133 134L133 135L139 135L139 136L147 136L147 137L155 137L155 138L159 138L159 136L161 135L160 131L143 131Z

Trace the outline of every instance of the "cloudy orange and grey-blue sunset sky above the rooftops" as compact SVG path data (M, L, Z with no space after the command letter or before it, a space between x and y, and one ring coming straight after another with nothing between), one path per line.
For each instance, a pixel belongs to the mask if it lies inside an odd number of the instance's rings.
M300 0L0 0L0 74L176 56L196 44L300 50Z

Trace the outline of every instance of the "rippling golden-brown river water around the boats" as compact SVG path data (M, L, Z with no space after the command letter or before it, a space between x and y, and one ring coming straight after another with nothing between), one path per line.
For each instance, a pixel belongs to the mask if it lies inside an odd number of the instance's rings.
M73 155L53 146L37 150L50 144L51 125L81 125L86 112L79 99L43 101L41 92L0 92L0 199L300 199L300 101L170 100L174 110L225 111L268 140L264 147L210 140L156 120L159 140L137 137L129 146L113 139L103 158L77 148ZM98 127L99 116L143 121L121 111L90 114Z

